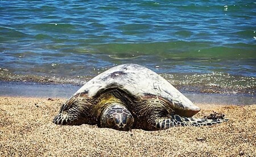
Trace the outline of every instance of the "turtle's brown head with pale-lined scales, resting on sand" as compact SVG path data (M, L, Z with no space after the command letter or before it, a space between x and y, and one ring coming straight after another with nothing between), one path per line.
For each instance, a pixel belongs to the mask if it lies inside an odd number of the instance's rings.
M133 126L133 122L133 115L118 102L108 106L101 115L101 126L115 130L129 131Z

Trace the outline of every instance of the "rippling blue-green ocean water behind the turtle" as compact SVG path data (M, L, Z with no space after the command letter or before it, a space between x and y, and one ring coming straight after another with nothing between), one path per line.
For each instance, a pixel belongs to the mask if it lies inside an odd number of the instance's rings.
M255 1L0 1L0 81L81 85L123 63L255 96Z

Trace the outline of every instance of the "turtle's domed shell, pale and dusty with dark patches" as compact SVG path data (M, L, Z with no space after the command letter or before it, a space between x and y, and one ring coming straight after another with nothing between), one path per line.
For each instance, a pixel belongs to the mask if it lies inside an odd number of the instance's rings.
M110 68L86 82L73 96L82 93L82 95L86 94L86 97L94 98L98 91L111 86L120 87L141 100L162 98L171 105L176 114L181 116L192 117L200 111L199 107L188 100L170 82L150 69L137 64L122 64Z

